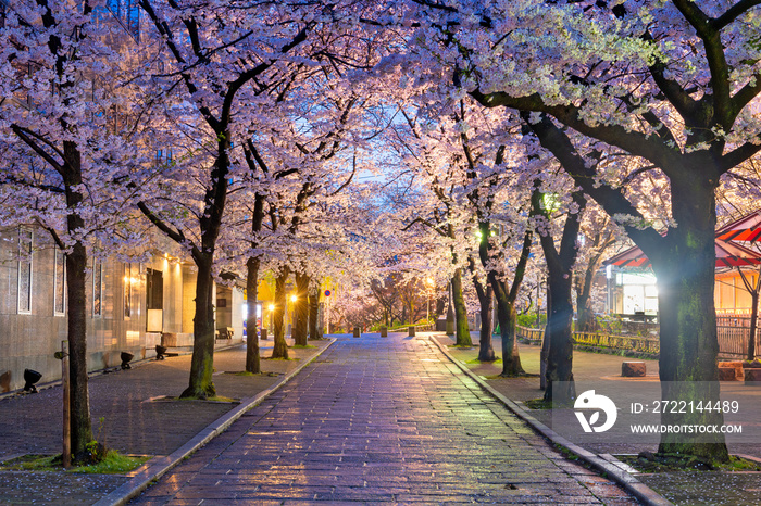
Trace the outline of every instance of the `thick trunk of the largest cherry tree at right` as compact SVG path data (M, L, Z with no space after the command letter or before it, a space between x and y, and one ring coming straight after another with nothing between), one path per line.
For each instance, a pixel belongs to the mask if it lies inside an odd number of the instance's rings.
M661 399L719 403L715 277L715 181L671 178L672 213L665 248L645 253L658 277ZM656 250L656 249L653 249ZM661 423L722 425L719 410L663 413ZM726 461L724 434L663 433L659 453L682 453Z

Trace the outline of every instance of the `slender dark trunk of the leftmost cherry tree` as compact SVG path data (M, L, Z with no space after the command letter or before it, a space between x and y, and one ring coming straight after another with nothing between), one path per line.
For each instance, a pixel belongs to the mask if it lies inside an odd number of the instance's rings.
M87 251L82 243L77 242L72 252L66 255L71 437L72 455L75 461L85 458L86 445L93 439L87 384L86 269Z

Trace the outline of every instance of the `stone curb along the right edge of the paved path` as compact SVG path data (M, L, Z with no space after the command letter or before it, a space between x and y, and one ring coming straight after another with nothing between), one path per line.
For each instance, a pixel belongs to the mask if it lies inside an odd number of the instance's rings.
M499 400L502 404L504 404L511 412L513 412L519 418L521 418L523 421L528 423L542 434L545 438L550 440L552 443L558 444L560 446L563 446L564 448L569 450L571 453L579 457L582 460L590 465L592 468L595 468L597 471L604 472L607 476L620 484L626 492L635 496L638 501L640 501L643 504L649 505L649 506L668 506L668 505L673 505L670 501L668 501L665 497L659 495L656 491L647 486L645 483L640 482L636 478L634 478L632 475L626 472L623 469L624 464L617 460L615 457L612 455L610 458L606 459L602 458L598 455L595 455L594 453L589 452L588 450L585 450L577 444L572 443L567 439L563 438L562 435L558 434L556 431L531 416L525 409L523 409L521 406L519 406L515 402L509 400L501 393L499 393L497 390L495 390L491 385L489 385L486 381L484 381L475 372L471 371L467 366L462 364L460 360L454 358L450 353L449 350L446 349L445 344L441 344L435 336L431 337L431 340L436 344L436 346L439 349L444 355L449 358L450 362L452 362L454 365L457 365L460 370L462 370L465 375L467 375L472 380L474 380L478 385L489 392L491 395L494 395L497 400ZM521 403L522 404L522 403Z

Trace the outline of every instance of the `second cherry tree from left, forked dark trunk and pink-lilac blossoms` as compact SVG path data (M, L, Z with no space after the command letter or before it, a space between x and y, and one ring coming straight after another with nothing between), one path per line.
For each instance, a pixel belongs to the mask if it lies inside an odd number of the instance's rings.
M192 124L196 132L185 142L182 163L173 162L169 167L178 177L180 168L195 170L199 185L190 193L194 203L185 206L195 219L177 219L176 207L169 199L163 202L170 206L157 207L158 199L139 205L162 232L188 250L198 267L194 354L184 397L215 394L214 257L230 175L246 169L240 143L234 149L233 142L235 138L246 139L250 122L241 116L255 111L255 103L240 99L252 100L258 89L275 86L294 59L303 58L298 49L308 40L317 24L315 16L320 15L314 5L254 2L232 9L232 3L208 2L199 7L162 0L139 2L155 29L155 43L164 50L161 58L165 71L153 73L158 88L154 101L174 99L175 105L165 109L173 126ZM311 45L304 46L314 50ZM184 117L194 121L188 123ZM202 139L201 146L190 149L188 142L196 139Z

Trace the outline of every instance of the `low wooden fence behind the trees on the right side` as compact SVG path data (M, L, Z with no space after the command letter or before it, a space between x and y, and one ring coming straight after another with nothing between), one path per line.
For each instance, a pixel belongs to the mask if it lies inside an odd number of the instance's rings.
M761 329L756 331L756 353L761 355ZM541 343L544 329L529 329L516 327L515 333L537 344ZM743 316L718 316L716 333L719 337L719 356L721 358L745 358L748 353L748 334L750 333L750 318ZM574 344L583 346L606 347L610 350L624 350L658 355L661 346L656 337L611 336L598 332L574 332Z

